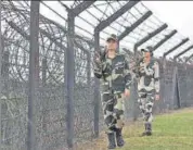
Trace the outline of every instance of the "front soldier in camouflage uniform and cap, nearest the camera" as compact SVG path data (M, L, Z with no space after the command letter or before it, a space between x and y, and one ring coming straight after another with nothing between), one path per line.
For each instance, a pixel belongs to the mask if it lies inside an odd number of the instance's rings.
M107 127L108 149L123 147L124 99L130 95L131 76L128 57L117 52L117 37L106 39L106 51L94 58L94 75L101 82L104 122ZM116 139L116 142L115 142Z

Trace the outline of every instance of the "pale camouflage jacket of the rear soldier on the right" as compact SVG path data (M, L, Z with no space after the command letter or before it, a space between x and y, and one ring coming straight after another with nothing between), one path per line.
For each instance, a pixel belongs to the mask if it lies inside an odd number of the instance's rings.
M147 65L140 63L138 90L159 93L159 64L156 60L152 59Z

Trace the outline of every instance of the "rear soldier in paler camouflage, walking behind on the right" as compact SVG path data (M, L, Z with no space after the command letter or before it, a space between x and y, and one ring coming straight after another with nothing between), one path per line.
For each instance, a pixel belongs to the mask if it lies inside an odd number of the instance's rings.
M152 135L152 108L154 100L159 100L159 65L153 57L153 48L142 49L143 61L139 64L138 95L139 108L144 118L145 132L142 136Z

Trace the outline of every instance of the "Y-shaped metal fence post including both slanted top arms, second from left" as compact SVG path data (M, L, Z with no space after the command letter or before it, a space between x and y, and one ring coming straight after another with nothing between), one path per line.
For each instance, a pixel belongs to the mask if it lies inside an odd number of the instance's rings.
M74 9L69 9L60 2L67 10L67 50L65 53L65 84L66 90L66 121L67 121L67 145L73 148L74 138L74 87L75 87L75 55L74 55L74 37L75 37L75 18L94 1L83 1Z

